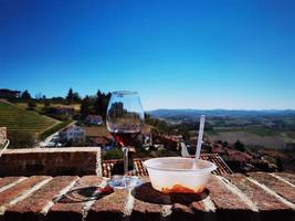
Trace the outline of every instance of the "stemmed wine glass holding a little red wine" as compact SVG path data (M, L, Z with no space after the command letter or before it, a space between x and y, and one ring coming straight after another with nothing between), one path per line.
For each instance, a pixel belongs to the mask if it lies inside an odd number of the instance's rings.
M144 125L144 109L137 92L113 92L106 113L106 127L124 156L124 176L114 176L109 186L118 189L129 189L141 182L137 177L128 176L128 147L140 134Z

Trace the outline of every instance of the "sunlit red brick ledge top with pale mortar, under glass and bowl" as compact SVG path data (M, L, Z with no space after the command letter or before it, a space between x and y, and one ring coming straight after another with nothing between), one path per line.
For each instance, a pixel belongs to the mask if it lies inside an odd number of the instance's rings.
M0 179L0 220L295 220L295 175L212 175L201 194L130 191L97 176Z

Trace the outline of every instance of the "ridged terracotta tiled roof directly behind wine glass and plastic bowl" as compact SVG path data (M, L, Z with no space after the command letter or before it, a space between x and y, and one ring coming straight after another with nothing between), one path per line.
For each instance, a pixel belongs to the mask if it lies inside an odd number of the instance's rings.
M143 162L148 158L136 158L134 159L134 170L130 171L130 175L136 175L140 177L148 176L146 168ZM223 161L223 159L218 154L202 154L201 159L209 160L213 162L218 168L213 171L214 175L223 175L223 173L233 173L229 166ZM103 177L112 177L115 173L122 173L123 171L123 160L114 159L114 160L103 160L102 164Z

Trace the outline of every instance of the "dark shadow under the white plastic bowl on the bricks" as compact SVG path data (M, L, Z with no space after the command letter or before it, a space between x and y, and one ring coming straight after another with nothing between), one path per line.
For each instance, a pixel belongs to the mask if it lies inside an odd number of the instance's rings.
M201 201L209 196L209 190L206 189L200 194L192 193L161 193L151 187L150 182L143 183L131 191L134 198L140 201L156 203L156 204L191 204L196 201Z

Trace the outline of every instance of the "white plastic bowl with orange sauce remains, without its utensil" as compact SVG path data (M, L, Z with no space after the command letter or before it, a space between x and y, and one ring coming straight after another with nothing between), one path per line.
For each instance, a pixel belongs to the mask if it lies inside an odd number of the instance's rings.
M144 162L154 189L164 192L200 193L217 166L210 161L183 157L152 158Z

